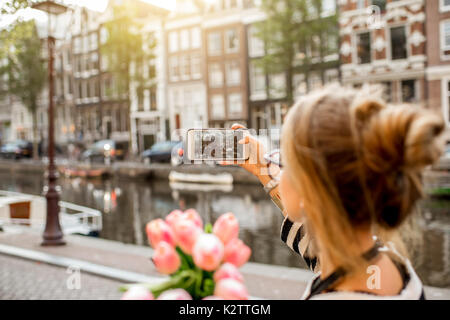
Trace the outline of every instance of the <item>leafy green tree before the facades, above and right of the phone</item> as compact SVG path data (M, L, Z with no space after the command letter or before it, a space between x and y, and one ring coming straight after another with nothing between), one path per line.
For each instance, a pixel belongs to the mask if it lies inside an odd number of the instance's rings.
M257 23L256 36L265 43L266 55L259 61L266 74L286 74L286 100L293 102L293 76L318 70L322 80L329 65L324 57L336 41L337 15L326 15L321 0L262 0L266 20Z

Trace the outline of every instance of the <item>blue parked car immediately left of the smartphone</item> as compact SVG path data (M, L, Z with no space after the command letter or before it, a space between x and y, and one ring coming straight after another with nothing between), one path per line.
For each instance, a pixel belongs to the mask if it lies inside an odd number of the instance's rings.
M150 149L142 152L141 158L147 164L152 162L170 162L172 165L179 165L182 163L183 154L179 155L179 149L183 148L182 144L180 141L157 142Z

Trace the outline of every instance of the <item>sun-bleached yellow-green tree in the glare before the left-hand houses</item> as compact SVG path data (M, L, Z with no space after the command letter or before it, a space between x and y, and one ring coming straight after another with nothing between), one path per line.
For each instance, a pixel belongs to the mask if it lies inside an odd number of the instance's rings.
M128 108L134 93L132 88L135 88L141 102L144 90L154 86L151 80L155 72L149 62L155 57L156 39L142 31L142 15L142 9L134 2L114 3L112 19L103 25L108 36L102 44L101 53L106 58L108 72L115 80L118 96L125 97ZM144 77L144 68L149 68L148 77Z

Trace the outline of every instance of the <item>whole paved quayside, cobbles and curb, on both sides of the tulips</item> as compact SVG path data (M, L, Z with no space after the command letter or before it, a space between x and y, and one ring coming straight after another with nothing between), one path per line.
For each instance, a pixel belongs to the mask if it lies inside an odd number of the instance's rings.
M150 247L75 235L65 240L65 246L41 247L40 234L0 232L0 299L117 299L121 284L164 280L149 259ZM67 289L67 268L73 265L80 266L80 290ZM259 263L241 271L250 295L264 299L299 299L313 275ZM450 300L450 289L425 291L428 299Z

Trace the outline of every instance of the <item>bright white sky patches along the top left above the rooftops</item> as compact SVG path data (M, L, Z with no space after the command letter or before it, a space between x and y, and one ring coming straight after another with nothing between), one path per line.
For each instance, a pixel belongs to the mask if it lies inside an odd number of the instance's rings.
M2 6L5 1L6 0L0 0L0 6ZM175 0L141 0L141 1L148 2L153 5L169 10L173 10L175 8ZM63 0L61 2L67 5L76 4L78 6L84 6L86 8L95 11L104 11L106 9L106 6L108 5L108 0ZM38 21L46 21L47 19L45 13L28 8L20 10L20 12L18 12L15 15L0 16L0 29L11 24L14 20L16 20L18 16L23 17L25 20L36 19Z

